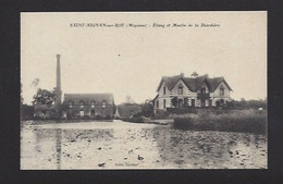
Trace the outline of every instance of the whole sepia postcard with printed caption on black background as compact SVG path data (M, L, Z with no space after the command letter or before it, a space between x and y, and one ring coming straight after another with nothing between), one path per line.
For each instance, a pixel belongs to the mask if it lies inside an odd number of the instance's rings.
M21 12L20 169L268 169L267 24Z

